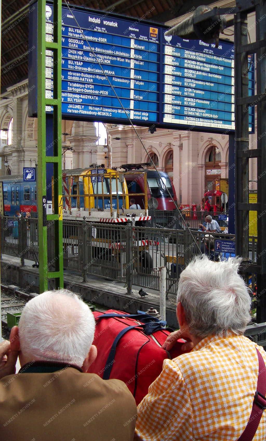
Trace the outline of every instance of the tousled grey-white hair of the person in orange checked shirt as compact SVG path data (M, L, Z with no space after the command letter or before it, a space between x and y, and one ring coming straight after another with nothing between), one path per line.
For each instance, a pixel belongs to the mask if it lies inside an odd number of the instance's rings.
M194 258L180 275L177 302L181 302L189 329L196 337L244 333L250 321L249 290L237 273L241 258L212 262Z

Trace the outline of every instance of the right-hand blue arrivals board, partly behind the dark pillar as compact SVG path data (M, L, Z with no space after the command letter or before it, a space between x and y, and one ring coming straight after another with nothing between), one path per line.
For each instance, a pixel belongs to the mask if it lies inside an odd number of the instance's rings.
M163 122L235 129L234 47L165 37L163 44ZM251 62L251 59L250 59ZM250 93L254 87L249 72ZM253 114L250 110L249 130Z

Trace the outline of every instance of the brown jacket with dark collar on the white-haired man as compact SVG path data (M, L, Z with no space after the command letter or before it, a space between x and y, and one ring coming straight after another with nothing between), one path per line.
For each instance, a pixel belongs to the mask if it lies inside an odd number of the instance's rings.
M120 380L33 363L0 380L0 441L131 441L137 407Z

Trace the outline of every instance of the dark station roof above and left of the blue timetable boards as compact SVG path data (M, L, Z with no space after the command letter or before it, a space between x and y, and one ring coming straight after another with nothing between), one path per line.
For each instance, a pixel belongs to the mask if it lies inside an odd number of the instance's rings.
M69 4L165 23L192 13L202 1L71 0ZM212 1L204 0L203 3ZM29 0L2 0L1 92L28 77L29 9Z

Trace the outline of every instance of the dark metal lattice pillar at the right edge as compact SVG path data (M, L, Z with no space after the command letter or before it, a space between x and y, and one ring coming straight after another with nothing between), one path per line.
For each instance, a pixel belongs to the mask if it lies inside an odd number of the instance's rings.
M257 322L266 321L266 1L237 0L235 27L236 86L236 254L248 272L249 211L257 210ZM256 41L248 43L247 14L255 11ZM256 54L257 94L248 96L248 55ZM257 148L249 149L248 107L257 106ZM258 201L249 203L249 159L257 158Z

